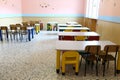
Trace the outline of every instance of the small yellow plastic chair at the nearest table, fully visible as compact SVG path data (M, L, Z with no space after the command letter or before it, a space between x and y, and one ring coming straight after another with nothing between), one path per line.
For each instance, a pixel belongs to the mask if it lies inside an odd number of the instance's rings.
M79 71L79 53L77 51L65 51L62 55L62 75L65 75L65 65L72 64L75 66L75 74Z

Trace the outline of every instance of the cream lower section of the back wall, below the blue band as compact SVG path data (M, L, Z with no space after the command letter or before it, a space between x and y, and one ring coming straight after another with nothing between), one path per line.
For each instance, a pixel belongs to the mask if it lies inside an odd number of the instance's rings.
M47 30L47 22L58 22L58 23L65 23L68 21L76 21L80 24L83 24L83 18L76 18L76 17L23 17L23 22L29 21L41 21L44 24L44 30Z

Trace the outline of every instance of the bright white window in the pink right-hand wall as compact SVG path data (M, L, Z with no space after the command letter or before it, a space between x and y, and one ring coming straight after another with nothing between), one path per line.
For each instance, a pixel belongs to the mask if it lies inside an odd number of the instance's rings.
M85 17L98 19L100 0L87 0Z

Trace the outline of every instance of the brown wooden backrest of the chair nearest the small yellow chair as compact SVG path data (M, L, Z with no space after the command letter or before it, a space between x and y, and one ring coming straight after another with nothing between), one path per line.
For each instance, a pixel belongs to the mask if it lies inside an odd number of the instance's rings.
M101 51L100 45L88 45L85 47L85 51L90 54L97 54Z

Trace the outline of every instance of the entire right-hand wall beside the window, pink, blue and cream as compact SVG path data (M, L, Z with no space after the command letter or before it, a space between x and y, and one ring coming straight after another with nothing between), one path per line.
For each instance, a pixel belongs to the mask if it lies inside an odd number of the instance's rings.
M107 7L108 6L108 7ZM101 40L120 44L120 0L101 0L97 32Z

